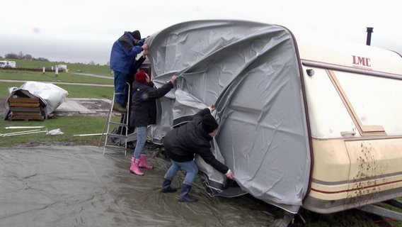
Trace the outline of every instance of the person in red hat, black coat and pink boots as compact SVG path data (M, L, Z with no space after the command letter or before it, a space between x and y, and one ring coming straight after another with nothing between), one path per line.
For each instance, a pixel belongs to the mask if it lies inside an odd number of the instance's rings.
M161 98L173 89L175 81L176 75L173 75L170 82L156 88L146 72L138 71L134 75L130 126L136 127L137 143L134 153L132 153L130 172L135 175L144 175L144 172L139 168L154 168L148 164L147 153L144 149L147 142L147 127L156 123L156 99Z

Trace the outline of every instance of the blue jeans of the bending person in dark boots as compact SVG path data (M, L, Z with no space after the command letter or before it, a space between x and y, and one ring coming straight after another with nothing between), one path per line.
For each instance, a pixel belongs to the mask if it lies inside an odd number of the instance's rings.
M185 177L183 180L183 184L188 184L192 185L194 182L195 177L197 177L198 173L198 166L197 163L195 163L194 160L191 160L189 162L176 162L171 160L172 165L169 167L168 171L165 174L166 179L172 180L173 177L176 175L178 170L180 168L183 168L185 170Z

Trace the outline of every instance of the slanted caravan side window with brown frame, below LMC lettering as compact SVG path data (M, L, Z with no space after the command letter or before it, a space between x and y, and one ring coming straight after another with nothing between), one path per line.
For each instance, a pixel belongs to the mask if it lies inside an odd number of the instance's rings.
M401 134L402 80L328 70L362 135Z

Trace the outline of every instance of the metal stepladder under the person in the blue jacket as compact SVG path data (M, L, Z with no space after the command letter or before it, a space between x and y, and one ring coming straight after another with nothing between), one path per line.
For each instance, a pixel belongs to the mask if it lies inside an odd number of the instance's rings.
M127 104L124 112L113 110L113 106L115 106L115 93L113 93L112 103L110 104L108 116L106 116L105 120L105 126L103 126L103 133L99 140L100 147L103 135L105 135L103 155L105 155L106 150L108 149L124 150L125 155L127 155L127 143L129 142L130 133L134 131L134 128L130 127L130 84L126 84Z

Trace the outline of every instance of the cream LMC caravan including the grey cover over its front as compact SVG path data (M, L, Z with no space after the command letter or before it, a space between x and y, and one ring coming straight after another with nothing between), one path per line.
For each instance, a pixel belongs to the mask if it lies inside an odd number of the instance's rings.
M249 21L188 21L147 40L159 99L151 129L171 128L216 106L214 154L228 182L196 157L211 196L251 194L296 214L321 214L402 196L402 57L296 35Z

